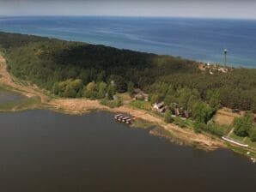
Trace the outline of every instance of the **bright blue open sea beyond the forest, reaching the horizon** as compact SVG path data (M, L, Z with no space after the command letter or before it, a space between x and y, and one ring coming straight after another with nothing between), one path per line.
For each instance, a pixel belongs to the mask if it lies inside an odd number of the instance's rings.
M256 68L256 21L153 17L0 17L0 31Z

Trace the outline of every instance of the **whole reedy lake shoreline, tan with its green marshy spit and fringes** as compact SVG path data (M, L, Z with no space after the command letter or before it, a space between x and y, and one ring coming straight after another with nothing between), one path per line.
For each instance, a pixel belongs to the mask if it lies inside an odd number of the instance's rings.
M84 114L90 111L109 111L112 113L126 113L135 117L137 121L144 121L152 124L159 129L161 133L152 132L150 134L167 137L171 141L177 141L181 144L186 144L192 147L198 147L206 151L216 150L218 148L231 148L229 143L222 141L215 135L206 133L196 134L192 129L180 128L172 123L165 123L162 117L155 117L149 113L149 111L143 111L132 107L131 105L122 105L117 108L110 108L106 105L101 105L99 100L89 99L63 99L52 96L45 90L41 90L36 86L24 85L21 81L11 76L7 71L7 65L4 57L0 54L0 85L6 87L10 91L21 93L27 96L28 99L40 98L40 102L34 105L27 106L21 109L15 109L7 111L22 111L33 109L46 109L52 111L58 111L67 113L70 115ZM1 112L1 111L0 111ZM3 110L2 110L3 112ZM166 134L162 134L166 133ZM243 149L241 149L243 151ZM246 153L243 153L246 154Z

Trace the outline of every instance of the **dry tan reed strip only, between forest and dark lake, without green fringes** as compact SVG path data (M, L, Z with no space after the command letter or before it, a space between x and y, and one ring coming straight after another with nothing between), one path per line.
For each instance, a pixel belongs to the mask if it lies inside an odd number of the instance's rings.
M41 92L38 87L28 87L22 85L13 80L12 76L9 75L7 70L7 65L5 59L0 55L0 84L8 85L9 87L14 87L16 90L27 95L27 97L39 96L41 102L52 108L58 110L64 110L70 113L81 113L91 110L105 110L112 112L122 112L128 113L132 117L141 118L150 123L156 123L160 125L163 129L188 143L197 143L200 147L207 149L215 149L217 147L223 147L223 142L217 141L210 138L208 135L195 134L191 129L180 129L174 124L167 124L160 117L155 117L147 111L137 110L132 108L130 105L125 104L119 108L111 109L105 105L101 105L98 100L88 100L88 99L51 99L45 93Z

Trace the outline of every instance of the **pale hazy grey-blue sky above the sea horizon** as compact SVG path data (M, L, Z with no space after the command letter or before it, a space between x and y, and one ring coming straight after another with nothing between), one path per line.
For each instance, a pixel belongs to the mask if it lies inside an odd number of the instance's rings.
M256 0L0 0L0 15L112 15L256 19Z

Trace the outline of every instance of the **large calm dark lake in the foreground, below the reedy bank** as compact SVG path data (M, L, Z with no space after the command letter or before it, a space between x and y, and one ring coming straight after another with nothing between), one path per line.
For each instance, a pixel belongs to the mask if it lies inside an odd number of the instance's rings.
M0 113L0 191L246 191L256 165L116 123L113 114Z

